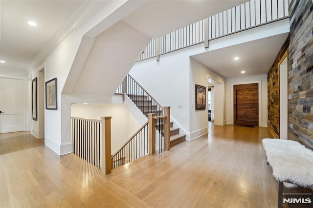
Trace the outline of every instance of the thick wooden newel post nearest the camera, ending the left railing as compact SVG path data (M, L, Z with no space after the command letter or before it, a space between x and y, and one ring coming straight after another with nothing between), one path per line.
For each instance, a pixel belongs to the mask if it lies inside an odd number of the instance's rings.
M111 173L112 160L111 160L111 116L103 116L102 120L102 155L101 155L101 167L103 174Z

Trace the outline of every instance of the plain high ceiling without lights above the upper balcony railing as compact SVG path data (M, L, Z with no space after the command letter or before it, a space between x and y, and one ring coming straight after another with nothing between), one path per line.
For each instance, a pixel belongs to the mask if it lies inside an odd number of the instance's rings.
M150 0L123 19L142 33L158 38L248 0Z

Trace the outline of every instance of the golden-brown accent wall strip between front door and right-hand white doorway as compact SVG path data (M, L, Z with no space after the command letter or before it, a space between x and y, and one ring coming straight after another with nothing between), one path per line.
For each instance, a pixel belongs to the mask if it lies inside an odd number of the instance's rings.
M270 131L279 137L279 62L289 47L289 37L280 49L268 71L268 125Z

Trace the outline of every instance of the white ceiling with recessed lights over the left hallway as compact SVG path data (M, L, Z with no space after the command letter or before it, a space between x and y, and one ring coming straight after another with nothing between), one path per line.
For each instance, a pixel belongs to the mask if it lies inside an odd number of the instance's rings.
M25 69L82 5L82 0L1 1L1 67ZM27 24L35 21L37 27Z

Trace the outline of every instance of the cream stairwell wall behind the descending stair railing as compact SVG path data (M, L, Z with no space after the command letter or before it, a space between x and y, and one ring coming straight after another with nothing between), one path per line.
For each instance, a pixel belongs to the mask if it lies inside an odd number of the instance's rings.
M112 116L111 151L115 153L139 129L140 125L123 104L72 104L71 116L101 120Z

